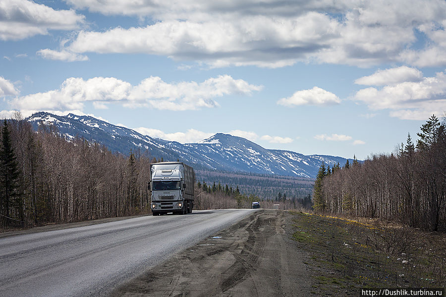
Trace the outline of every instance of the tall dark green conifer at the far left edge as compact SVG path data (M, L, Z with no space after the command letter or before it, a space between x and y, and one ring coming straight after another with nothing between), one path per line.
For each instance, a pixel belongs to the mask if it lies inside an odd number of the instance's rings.
M20 171L17 166L9 132L9 124L3 121L0 147L0 207L3 226L9 225L10 210L13 206L22 207L18 193Z

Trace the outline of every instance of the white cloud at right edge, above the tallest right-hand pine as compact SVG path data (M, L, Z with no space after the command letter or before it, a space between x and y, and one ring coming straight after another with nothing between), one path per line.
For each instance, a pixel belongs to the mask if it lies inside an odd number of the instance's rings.
M426 119L424 115L442 114L446 109L446 74L423 77L417 82L402 82L381 89L359 90L354 100L373 110L390 109L390 116L400 119Z

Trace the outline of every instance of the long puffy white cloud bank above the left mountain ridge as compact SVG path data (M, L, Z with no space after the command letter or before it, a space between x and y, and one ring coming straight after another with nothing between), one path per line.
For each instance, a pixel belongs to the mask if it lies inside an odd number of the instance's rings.
M262 86L250 85L228 75L209 78L204 82L166 83L160 77L149 77L138 85L114 77L95 77L88 80L68 78L58 90L36 93L9 101L20 110L82 110L86 101L96 108L107 103L120 103L125 107L152 107L155 109L190 110L215 107L217 97L225 95L251 95Z

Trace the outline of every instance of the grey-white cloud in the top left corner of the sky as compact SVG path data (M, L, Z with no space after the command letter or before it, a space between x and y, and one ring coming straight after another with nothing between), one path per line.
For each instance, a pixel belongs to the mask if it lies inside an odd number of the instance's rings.
M0 1L0 39L20 40L48 30L73 30L85 22L74 10L54 10L28 0Z

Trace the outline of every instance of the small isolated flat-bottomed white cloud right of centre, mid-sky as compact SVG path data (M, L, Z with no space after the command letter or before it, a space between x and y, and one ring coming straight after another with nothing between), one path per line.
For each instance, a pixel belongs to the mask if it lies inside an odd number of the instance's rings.
M277 101L280 105L332 105L340 103L340 99L333 93L314 87L310 90L297 91L293 96Z

